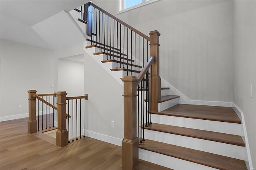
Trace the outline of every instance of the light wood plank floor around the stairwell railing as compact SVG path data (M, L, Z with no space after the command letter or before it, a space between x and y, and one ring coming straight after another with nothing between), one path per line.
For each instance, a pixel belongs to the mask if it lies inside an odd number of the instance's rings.
M27 134L28 118L0 123L1 170L121 170L121 147L82 138L58 147ZM137 170L165 170L140 160Z

